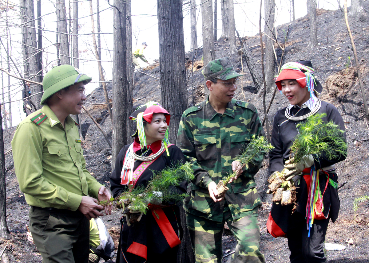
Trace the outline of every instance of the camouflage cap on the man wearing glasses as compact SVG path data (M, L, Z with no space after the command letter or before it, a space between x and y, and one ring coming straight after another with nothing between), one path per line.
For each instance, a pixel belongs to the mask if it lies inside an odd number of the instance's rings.
M219 78L220 80L229 80L231 78L243 76L242 74L234 71L229 57L222 57L220 59L214 59L210 61L201 72L205 77L205 81L213 80L214 78Z

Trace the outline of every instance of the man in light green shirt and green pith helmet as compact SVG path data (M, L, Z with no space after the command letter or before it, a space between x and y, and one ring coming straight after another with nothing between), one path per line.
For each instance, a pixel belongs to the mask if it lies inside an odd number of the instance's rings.
M99 200L111 194L86 169L77 124L85 84L70 65L53 67L42 82L40 110L17 127L11 147L19 188L30 208L30 231L44 263L88 262L89 219L111 214Z

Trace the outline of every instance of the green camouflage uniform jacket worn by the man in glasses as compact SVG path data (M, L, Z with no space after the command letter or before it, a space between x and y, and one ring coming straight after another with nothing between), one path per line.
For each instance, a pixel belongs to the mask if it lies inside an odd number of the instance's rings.
M208 185L232 172L232 162L237 160L252 134L265 135L254 105L232 99L224 114L217 113L209 101L203 101L184 111L178 130L177 146L187 161L192 163L195 179L187 187L184 209L209 220L223 220L224 201L214 203ZM261 206L255 189L254 175L265 156L260 154L254 164L244 168L242 175L228 185L225 200L232 217L238 219L255 213Z

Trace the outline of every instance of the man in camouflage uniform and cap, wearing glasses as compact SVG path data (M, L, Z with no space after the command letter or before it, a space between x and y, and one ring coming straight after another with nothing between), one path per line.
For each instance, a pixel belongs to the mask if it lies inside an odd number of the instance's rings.
M255 107L233 99L236 78L242 75L227 57L208 63L203 74L209 97L184 111L177 137L195 175L183 207L196 262L221 263L225 222L237 240L231 262L265 262L259 251L261 200L254 182L264 154L246 168L237 160L252 134L264 131ZM216 198L219 180L236 170L225 198Z

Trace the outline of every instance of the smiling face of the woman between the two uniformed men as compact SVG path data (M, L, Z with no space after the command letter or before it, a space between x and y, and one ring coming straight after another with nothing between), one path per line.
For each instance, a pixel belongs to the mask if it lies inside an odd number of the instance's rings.
M144 125L146 144L152 144L155 141L163 140L165 131L168 129L166 118L163 113L154 113L151 123Z

